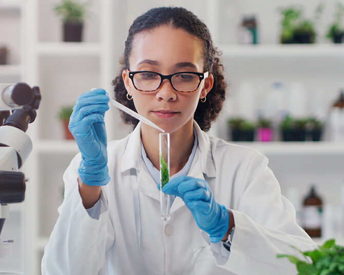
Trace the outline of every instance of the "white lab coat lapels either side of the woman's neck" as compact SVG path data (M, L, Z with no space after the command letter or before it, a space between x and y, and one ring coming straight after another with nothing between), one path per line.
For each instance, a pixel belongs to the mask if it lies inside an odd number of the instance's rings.
M198 148L201 152L200 157L202 172L208 178L214 178L216 176L216 170L212 156L211 142L207 134L201 130L196 121L194 121L194 127L198 137ZM133 132L129 134L128 142L122 160L122 172L131 168L140 170L143 162L141 156L141 122L139 122Z

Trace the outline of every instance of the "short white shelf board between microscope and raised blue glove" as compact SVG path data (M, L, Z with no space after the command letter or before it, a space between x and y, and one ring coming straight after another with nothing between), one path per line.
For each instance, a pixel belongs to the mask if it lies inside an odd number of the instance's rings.
M33 149L39 153L77 153L79 151L74 140L37 140Z

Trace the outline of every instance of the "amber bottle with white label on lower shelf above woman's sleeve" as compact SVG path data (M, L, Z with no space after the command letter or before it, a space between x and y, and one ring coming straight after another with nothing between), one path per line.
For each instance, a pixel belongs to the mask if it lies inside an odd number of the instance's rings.
M322 200L312 186L303 200L303 229L310 237L321 237Z

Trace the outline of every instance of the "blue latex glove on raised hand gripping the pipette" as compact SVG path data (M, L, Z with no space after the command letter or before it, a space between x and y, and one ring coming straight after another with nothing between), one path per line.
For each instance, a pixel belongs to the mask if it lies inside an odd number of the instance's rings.
M110 181L104 124L108 101L104 89L83 93L78 97L69 119L68 128L81 152L78 174L87 185L105 185Z

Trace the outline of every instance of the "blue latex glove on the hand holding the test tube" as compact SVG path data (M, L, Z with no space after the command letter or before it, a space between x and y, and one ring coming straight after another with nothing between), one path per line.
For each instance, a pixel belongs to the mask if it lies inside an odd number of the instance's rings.
M230 215L224 205L214 200L206 181L182 175L166 183L162 191L184 201L198 227L209 234L212 243L221 241L227 232Z

